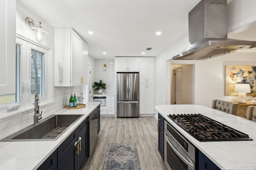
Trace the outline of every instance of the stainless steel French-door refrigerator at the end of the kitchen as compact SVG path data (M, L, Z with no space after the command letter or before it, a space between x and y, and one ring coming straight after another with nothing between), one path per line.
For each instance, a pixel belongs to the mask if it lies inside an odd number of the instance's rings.
M139 117L140 74L117 73L117 117Z

